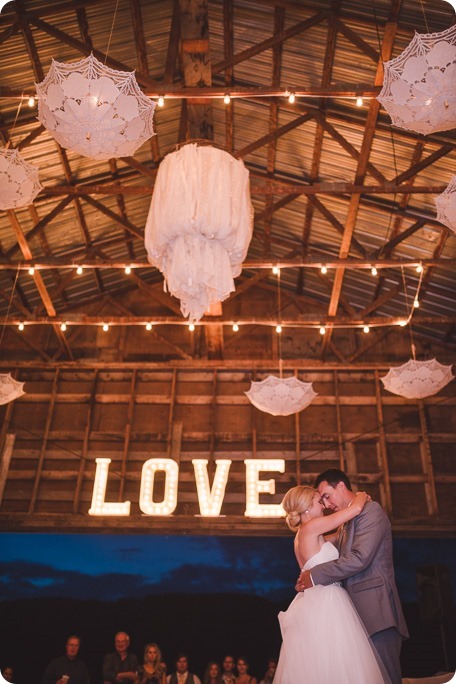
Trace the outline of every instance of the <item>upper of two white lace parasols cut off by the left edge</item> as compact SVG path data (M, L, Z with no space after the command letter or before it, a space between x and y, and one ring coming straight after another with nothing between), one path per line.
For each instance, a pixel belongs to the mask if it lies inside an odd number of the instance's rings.
M0 209L18 209L32 204L43 186L38 169L17 150L0 150Z

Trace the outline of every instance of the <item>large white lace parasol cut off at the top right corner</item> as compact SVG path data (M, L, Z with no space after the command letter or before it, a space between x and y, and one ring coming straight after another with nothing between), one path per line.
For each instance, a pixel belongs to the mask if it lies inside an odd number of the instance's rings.
M415 33L384 67L378 100L395 126L423 134L456 127L456 25Z

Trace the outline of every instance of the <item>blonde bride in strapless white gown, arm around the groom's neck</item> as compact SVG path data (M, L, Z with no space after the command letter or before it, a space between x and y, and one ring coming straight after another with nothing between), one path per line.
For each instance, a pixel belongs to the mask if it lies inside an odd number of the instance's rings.
M328 533L361 513L368 499L365 492L358 492L348 508L324 516L315 489L290 489L282 506L288 527L296 532L299 567L309 570L337 559L339 552L330 541L336 535ZM274 684L389 684L364 625L338 582L298 593L288 610L279 613L279 622L283 643Z

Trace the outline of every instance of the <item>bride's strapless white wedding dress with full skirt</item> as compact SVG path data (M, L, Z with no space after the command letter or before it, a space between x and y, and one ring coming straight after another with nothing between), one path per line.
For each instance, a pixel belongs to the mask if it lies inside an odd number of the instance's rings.
M303 570L336 560L331 542ZM298 593L279 613L282 648L274 684L385 684L366 629L339 584L317 585Z

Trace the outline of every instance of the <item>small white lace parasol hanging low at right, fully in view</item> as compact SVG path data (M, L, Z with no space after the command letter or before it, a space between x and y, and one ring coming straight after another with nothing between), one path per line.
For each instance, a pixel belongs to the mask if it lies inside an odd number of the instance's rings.
M436 359L415 361L390 368L381 378L385 389L407 399L424 399L437 394L453 379L451 365L444 366Z

